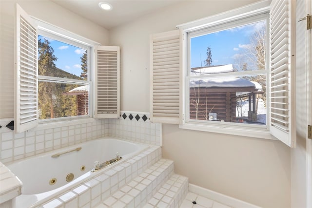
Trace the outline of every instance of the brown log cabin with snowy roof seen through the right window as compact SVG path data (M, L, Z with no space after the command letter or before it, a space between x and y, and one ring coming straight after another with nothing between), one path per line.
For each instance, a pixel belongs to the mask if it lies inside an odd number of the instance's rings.
M258 89L242 78L206 78L190 82L190 119L237 122L236 105L239 97L249 98L249 120L256 120ZM216 117L210 118L214 114ZM255 118L252 117L255 115Z

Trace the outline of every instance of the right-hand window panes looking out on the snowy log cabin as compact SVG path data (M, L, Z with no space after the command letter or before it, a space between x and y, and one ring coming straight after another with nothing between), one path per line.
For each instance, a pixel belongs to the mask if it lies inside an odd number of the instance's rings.
M268 18L266 13L187 33L187 123L266 127Z

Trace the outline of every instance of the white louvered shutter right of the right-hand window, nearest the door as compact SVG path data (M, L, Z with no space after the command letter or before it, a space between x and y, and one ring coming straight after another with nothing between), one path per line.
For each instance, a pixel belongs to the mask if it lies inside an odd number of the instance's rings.
M270 8L270 132L290 147L295 131L295 22L293 0L272 0Z

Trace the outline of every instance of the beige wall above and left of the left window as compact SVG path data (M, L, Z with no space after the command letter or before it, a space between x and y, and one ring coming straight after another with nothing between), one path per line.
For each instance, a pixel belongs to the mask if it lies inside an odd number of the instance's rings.
M31 16L85 38L108 44L108 30L48 0L0 0L0 118L14 117L15 3Z

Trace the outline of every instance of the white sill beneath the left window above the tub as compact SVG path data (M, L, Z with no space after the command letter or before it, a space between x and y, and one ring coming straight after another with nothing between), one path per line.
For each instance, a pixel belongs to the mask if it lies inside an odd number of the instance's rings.
M39 123L39 125L33 130L35 131L46 130L46 129L72 126L72 125L78 125L78 124L92 123L95 120L96 119L94 118L81 118L81 119L63 120L63 121L50 121L50 122Z

